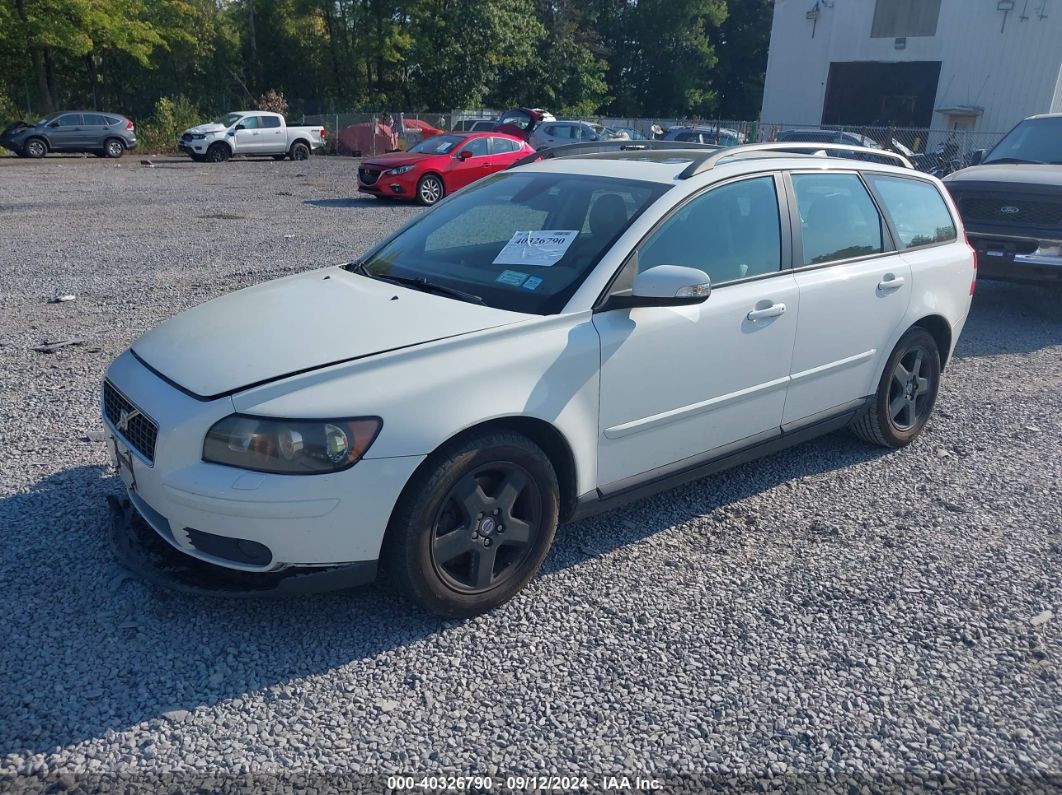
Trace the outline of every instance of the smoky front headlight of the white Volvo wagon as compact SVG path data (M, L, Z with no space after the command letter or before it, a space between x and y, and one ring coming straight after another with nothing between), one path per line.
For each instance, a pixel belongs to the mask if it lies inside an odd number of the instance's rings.
M383 420L271 419L233 414L215 422L203 461L275 474L338 472L358 463Z

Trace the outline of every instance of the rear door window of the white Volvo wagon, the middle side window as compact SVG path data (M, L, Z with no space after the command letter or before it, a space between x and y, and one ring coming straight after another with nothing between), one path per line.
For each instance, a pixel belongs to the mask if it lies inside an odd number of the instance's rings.
M885 234L873 200L855 174L793 174L804 264L881 254Z

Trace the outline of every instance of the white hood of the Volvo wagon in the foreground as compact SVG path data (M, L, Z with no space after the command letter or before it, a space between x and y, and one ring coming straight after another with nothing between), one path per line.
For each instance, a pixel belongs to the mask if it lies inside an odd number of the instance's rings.
M189 309L133 343L133 352L182 388L217 398L527 317L329 267Z

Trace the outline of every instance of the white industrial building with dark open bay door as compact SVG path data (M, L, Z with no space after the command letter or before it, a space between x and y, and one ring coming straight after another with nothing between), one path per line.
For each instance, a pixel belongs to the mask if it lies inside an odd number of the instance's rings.
M760 119L1005 132L1062 113L1062 0L775 0Z

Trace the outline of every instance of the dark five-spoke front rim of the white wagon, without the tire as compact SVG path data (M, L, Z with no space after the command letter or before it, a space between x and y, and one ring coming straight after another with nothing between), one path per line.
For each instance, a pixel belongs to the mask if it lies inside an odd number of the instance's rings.
M495 463L450 489L431 533L431 564L462 593L483 593L521 573L542 532L538 486L524 467Z

